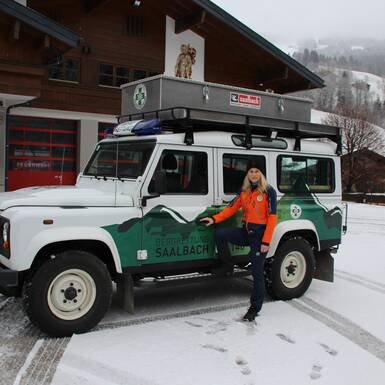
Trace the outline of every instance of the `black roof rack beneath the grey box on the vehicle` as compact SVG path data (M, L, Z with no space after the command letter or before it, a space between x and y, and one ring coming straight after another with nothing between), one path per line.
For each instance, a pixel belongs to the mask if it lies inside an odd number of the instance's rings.
M189 107L173 107L143 113L121 115L119 123L132 120L159 119L162 129L185 133L184 142L194 143L194 132L224 131L245 135L245 147L252 147L251 136L293 138L294 150L301 150L301 139L327 138L337 144L336 153L342 153L342 133L339 127L265 116L251 116L233 112L208 111Z

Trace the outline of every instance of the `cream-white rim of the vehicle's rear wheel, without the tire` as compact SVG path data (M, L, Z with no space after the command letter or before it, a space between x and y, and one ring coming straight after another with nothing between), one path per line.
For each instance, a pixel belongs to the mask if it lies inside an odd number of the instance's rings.
M306 260L299 251L292 251L286 255L281 265L281 281L289 289L301 284L305 278Z

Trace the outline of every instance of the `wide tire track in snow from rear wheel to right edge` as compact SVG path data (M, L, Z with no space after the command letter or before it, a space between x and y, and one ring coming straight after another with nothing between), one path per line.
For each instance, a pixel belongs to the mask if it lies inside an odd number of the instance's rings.
M341 314L307 297L294 299L287 303L333 329L338 334L341 334L368 353L385 362L385 342L343 317Z

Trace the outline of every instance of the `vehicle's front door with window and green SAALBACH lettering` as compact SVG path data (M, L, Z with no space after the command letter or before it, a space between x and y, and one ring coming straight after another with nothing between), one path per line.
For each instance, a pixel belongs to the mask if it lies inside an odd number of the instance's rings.
M155 173L165 174L165 193L143 207L143 264L212 258L213 229L199 219L214 213L213 149L160 145L141 195L155 193Z

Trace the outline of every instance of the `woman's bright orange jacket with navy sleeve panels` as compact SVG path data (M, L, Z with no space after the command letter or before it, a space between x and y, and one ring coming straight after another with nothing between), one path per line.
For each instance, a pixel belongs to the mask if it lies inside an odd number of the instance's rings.
M230 204L219 214L212 218L215 223L220 223L233 216L242 208L244 222L266 225L263 233L262 243L269 245L273 237L274 228L277 224L277 193L269 186L267 193L261 193L258 189L240 192Z

